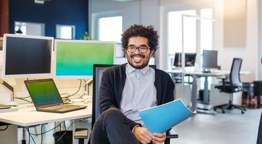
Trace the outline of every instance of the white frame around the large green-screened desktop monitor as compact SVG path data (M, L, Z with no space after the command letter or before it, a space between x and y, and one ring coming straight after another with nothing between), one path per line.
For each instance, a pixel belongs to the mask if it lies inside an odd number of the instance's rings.
M114 59L113 64L116 63L116 42L113 41L93 41L93 40L54 40L54 79L92 79L93 75L56 75L56 50L57 42L79 42L79 43L114 43Z

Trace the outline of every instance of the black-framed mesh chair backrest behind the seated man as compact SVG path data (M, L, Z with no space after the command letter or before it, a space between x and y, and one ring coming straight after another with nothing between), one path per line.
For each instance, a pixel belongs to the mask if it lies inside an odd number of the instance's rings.
M94 64L93 65L93 94L92 94L92 126L95 124L96 119L99 117L99 109L98 109L98 91L100 86L101 77L103 71L105 71L109 67L116 66L114 64ZM150 65L151 67L156 68L156 65Z

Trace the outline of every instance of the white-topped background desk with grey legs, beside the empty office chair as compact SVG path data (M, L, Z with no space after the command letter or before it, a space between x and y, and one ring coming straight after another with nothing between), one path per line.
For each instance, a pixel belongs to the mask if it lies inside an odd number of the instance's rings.
M182 74L182 70L164 70L167 73L171 74ZM249 74L250 71L240 71L239 74ZM224 70L219 70L216 72L212 73L203 73L200 71L186 71L184 74L186 75L191 75L193 77L193 82L192 82L192 94L191 94L191 102L192 102L192 107L191 110L194 112L196 109L196 103L197 103L197 78L198 77L205 77L205 84L204 84L204 92L203 92L203 102L204 103L209 103L208 102L208 77L209 76L226 76L230 74L230 71L224 71ZM210 113L206 112L203 110L197 110L199 113L208 113L208 114L215 114L215 113Z

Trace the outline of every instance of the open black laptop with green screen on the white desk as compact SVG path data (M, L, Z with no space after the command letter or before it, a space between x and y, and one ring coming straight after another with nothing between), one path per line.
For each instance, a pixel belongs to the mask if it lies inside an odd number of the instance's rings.
M36 111L64 113L87 107L64 104L53 79L25 80L24 82Z

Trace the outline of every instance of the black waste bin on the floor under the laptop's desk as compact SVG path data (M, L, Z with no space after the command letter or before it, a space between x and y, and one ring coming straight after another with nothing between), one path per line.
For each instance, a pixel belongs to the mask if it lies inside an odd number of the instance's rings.
M58 131L58 132L55 132L53 134L54 136L54 142L56 142L63 134L64 134L65 131ZM60 134L59 134L60 133ZM56 142L56 144L62 144L62 141L63 141L63 144L72 144L72 140L73 140L73 131L67 131L63 137L58 141Z

